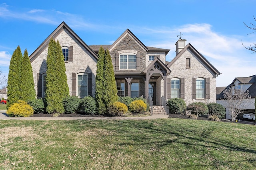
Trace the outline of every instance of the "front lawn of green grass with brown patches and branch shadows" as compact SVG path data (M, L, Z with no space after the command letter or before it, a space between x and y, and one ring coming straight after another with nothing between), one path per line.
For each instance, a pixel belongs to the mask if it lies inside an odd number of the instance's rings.
M187 119L0 121L0 169L255 169L256 126Z

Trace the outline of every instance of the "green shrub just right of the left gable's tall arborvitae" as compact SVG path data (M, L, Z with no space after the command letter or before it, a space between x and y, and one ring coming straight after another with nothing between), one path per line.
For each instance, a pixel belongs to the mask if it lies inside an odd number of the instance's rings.
M76 113L81 104L81 99L77 96L67 96L63 100L65 113Z

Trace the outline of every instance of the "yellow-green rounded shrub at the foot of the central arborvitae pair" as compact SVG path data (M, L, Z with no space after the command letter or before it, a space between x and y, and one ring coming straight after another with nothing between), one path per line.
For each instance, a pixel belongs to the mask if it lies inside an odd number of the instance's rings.
M112 116L125 115L128 111L128 107L121 102L114 102L108 106L108 114Z

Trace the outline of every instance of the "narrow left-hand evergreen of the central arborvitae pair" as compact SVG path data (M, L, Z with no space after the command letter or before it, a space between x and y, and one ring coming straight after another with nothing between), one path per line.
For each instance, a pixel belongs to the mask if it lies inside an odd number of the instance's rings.
M103 95L103 68L104 68L104 57L105 57L105 51L103 47L100 47L99 53L98 53L98 62L97 62L97 70L96 70L96 93L95 93L95 101L98 108L98 114L103 114L106 110L106 106L103 103L102 95Z

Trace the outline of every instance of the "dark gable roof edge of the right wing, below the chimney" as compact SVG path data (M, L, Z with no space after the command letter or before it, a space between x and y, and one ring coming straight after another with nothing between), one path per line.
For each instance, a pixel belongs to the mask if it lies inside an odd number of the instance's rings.
M176 55L176 57L174 57L174 59L172 59L172 61L167 65L169 68L170 66L172 66L172 64L175 63L176 60L178 60L180 58L180 56L182 56L182 54L185 53L185 51L187 49L190 49L193 53L196 54L196 56L206 65L208 66L208 68L210 68L210 70L212 70L212 72L214 72L216 74L216 76L220 75L221 73L214 67L212 66L212 64L206 60L206 58L204 58L204 56L202 54L200 54L190 43L188 43L188 45L186 45L186 47L184 47L184 49L182 49L182 51L180 51L180 53L178 53L178 55Z

